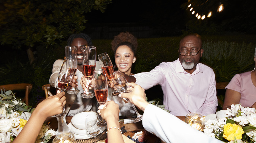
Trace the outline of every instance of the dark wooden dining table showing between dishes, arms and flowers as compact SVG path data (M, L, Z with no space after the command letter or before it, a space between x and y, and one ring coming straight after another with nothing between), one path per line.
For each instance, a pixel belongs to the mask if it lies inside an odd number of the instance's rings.
M185 116L176 116L177 118L181 119L182 121L185 121ZM66 123L67 125L71 123L71 119L73 118L73 116L66 116ZM52 129L54 129L55 131L57 131L58 128L58 121L55 117L49 117L46 119L46 123L49 123L50 127ZM130 137L132 137L135 133L137 132L146 132L146 136L145 136L145 140L147 143L156 143L156 142L160 142L161 143L161 139L158 138L156 135L153 135L147 131L145 131L145 129L142 126L142 121L139 121L137 123L127 123L127 124L119 124L120 125L120 129L123 128L123 135L125 135L126 137L129 135ZM105 140L107 138L106 135L106 131L107 128L100 133L99 135L96 136L97 139L97 143L105 143ZM50 143L50 141L49 141ZM94 138L90 138L90 139L76 139L76 143L94 143Z

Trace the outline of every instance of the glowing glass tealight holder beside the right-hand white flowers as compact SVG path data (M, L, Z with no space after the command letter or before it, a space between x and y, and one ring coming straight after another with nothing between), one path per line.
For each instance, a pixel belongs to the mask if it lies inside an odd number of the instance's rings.
M197 113L189 113L185 117L185 123L198 131L203 131L204 128L204 116Z

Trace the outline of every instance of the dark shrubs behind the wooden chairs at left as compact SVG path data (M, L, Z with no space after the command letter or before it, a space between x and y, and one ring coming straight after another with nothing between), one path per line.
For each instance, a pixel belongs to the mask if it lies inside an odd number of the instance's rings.
M32 84L33 88L30 93L32 96L30 95L29 103L30 105L35 105L40 98L44 97L41 87L49 83L51 70L52 65L47 63L46 60L35 60L31 65L29 62L22 63L13 59L0 67L0 85L14 83Z

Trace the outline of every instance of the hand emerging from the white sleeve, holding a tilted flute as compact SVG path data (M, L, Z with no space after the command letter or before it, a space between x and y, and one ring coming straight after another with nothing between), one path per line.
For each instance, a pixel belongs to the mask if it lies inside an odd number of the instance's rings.
M121 93L118 96L129 99L131 103L135 104L139 109L144 111L146 105L148 104L146 102L145 89L135 83L128 83L127 86L132 86L133 91L129 93Z

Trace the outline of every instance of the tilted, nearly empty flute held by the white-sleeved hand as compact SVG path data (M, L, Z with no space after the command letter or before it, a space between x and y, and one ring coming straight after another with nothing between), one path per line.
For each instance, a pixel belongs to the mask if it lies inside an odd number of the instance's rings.
M120 93L129 93L132 92L132 87L127 86L127 81L125 79L125 77L123 76L123 74L120 71L115 71L113 73L113 75L111 75L113 78L113 83L115 84L115 86L117 87L117 90ZM125 98L125 100L127 100L128 102L129 99ZM137 114L137 118L134 120L134 122L139 122L142 120L143 115L140 115L139 112L137 111L135 105L133 103L131 103L136 114Z

